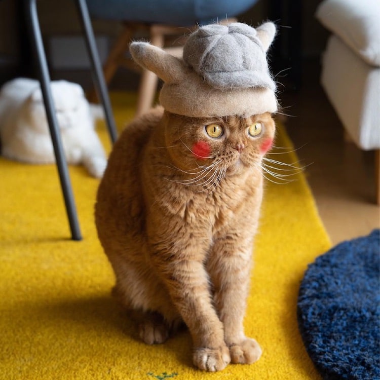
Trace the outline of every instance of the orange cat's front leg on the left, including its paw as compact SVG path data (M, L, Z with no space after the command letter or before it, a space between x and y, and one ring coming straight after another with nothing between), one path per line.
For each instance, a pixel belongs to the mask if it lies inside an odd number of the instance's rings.
M195 257L204 247L196 247L194 240L187 241L194 245L187 243L178 247L179 252L161 250L156 253L156 268L192 335L195 366L212 372L222 370L230 363L230 352L224 343L223 325L212 304L203 260Z

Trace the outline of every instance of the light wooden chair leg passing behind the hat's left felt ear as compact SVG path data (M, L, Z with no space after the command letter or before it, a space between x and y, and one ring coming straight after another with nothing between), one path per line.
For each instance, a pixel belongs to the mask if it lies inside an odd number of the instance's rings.
M162 30L156 30L155 26L150 28L150 43L152 45L163 47L164 34ZM157 75L149 70L143 70L140 80L140 88L137 96L136 117L149 110L153 104L157 90Z

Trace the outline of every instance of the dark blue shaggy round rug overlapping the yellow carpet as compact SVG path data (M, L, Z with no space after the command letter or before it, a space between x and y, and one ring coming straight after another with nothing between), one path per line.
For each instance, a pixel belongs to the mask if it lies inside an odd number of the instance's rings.
M380 230L309 265L298 295L303 343L324 379L380 378Z

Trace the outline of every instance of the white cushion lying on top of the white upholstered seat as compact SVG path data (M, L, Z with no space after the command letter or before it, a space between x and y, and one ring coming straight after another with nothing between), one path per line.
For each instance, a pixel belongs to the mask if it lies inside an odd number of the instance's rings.
M364 61L380 66L380 1L324 0L316 17Z

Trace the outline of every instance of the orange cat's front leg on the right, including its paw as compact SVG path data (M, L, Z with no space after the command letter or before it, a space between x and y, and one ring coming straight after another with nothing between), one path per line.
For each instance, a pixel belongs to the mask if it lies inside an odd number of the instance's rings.
M233 363L249 364L261 356L260 346L256 340L245 336L243 327L251 254L252 239L234 233L217 239L208 262L215 307L224 326L224 340Z

